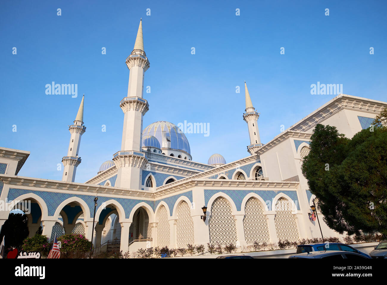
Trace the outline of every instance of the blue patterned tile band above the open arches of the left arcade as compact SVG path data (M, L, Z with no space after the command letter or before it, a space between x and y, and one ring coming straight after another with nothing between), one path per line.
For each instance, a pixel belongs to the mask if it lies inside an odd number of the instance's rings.
M56 193L56 192L45 192L45 191L31 191L25 189L9 189L8 201L12 201L19 197L20 195L34 193L41 197L47 205L48 215L53 216L58 206L66 199L74 197L74 194L69 193ZM76 197L84 200L87 206L89 206L91 218L94 215L94 195L76 195ZM125 199L125 198L112 198L112 197L98 197L98 205L102 205L103 202L108 200L116 200L122 207L125 209L125 217L129 218L130 212L132 209L139 204L140 202L145 202L148 204L154 211L154 202L149 200L136 200L136 199Z

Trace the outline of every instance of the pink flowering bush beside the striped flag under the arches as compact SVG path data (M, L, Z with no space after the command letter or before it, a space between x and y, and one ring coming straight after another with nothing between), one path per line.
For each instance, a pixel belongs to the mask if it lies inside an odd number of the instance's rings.
M91 242L84 235L62 235L58 241L62 242L61 258L86 258L89 255Z

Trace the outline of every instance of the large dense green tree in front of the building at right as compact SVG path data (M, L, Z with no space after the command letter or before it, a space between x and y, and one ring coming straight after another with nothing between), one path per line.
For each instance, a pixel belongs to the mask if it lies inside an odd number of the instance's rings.
M352 139L318 124L302 173L327 225L349 235L379 231L387 237L387 132L362 130Z

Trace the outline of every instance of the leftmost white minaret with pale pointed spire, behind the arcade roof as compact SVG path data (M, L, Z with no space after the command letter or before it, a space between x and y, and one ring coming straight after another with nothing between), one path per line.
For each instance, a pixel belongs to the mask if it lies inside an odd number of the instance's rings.
M62 163L65 169L63 169L62 181L74 182L75 172L77 166L80 164L81 159L78 157L80 138L86 131L86 127L83 125L83 104L85 100L85 94L80 101L77 116L75 117L74 124L71 125L68 130L71 133L70 144L68 145L67 156L62 158Z

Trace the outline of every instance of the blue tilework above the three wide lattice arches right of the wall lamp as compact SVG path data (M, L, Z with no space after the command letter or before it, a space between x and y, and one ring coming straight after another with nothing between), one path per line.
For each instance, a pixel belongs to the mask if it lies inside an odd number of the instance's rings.
M271 203L278 195L278 193L284 193L290 197L290 199L293 200L293 202L296 204L297 209L300 210L300 203L298 202L298 196L297 191L272 191L272 190L204 190L204 201L207 207L211 207L211 205L208 205L208 201L211 199L213 195L216 193L223 192L227 194L231 199L233 199L236 209L238 211L241 211L242 207L242 201L246 197L248 193L256 193L258 196L260 196L265 202L270 201L269 204L267 204L267 208L269 211L271 211Z

